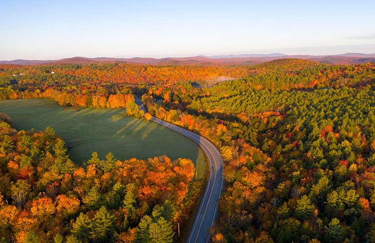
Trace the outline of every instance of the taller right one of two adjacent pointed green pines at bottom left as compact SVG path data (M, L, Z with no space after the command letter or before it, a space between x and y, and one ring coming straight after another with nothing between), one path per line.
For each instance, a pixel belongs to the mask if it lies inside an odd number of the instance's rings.
M113 231L114 216L102 206L96 213L94 218L94 238L99 242L108 242Z

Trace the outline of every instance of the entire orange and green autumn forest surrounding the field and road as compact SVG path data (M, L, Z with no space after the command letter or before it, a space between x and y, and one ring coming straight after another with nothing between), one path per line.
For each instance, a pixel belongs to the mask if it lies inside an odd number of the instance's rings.
M197 86L220 76L234 80ZM374 63L331 66L298 59L227 67L2 65L0 99L126 107L128 115L142 117L131 98L136 94L151 115L220 148L225 189L211 228L213 243L359 243L375 242L374 81ZM43 225L43 239L55 242L100 242L107 234L118 242L150 242L151 231L165 227L172 239L176 222L199 194L187 160L115 161L107 155L97 161L93 154L87 168L78 168L50 129L18 132L3 117L0 213L7 217L1 235L38 241L35 230ZM21 142L24 135L29 145ZM142 170L150 176L137 174ZM159 185L164 190L156 190ZM189 185L197 189L187 190ZM19 188L20 205L12 194ZM94 206L89 201L95 195L100 200ZM113 195L122 201L106 201ZM64 212L59 196L75 200L76 211ZM53 206L40 217L43 203ZM111 224L97 233L104 221ZM22 230L26 225L31 233Z

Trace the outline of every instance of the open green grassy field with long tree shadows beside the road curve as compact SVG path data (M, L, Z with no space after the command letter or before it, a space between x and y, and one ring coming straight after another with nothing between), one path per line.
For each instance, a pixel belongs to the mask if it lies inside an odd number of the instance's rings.
M172 160L189 158L196 165L198 179L206 171L206 158L199 146L164 126L127 117L124 109L65 108L44 99L0 101L0 112L11 117L14 128L36 131L47 126L54 128L77 164L89 160L96 151L102 159L109 152L120 160L163 155Z

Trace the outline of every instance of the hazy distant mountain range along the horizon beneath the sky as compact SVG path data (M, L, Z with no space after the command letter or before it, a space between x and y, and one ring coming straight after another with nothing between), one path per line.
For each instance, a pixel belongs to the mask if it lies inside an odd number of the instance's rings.
M111 57L72 57L59 60L12 60L0 61L0 64L13 64L13 65L42 65L54 63L67 63L67 64L92 64L92 63L140 63L151 65L255 65L263 62L268 62L281 58L298 58L311 60L318 63L350 65L361 64L368 62L375 62L375 53L345 53L339 55L286 55L282 53L270 54L240 54L240 55L214 55L214 56L192 56L192 57L166 57L166 58L111 58Z

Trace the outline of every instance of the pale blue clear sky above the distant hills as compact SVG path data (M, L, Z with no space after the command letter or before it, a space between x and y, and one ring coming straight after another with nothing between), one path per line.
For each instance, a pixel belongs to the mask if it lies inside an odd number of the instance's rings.
M0 60L375 52L374 0L0 3Z

